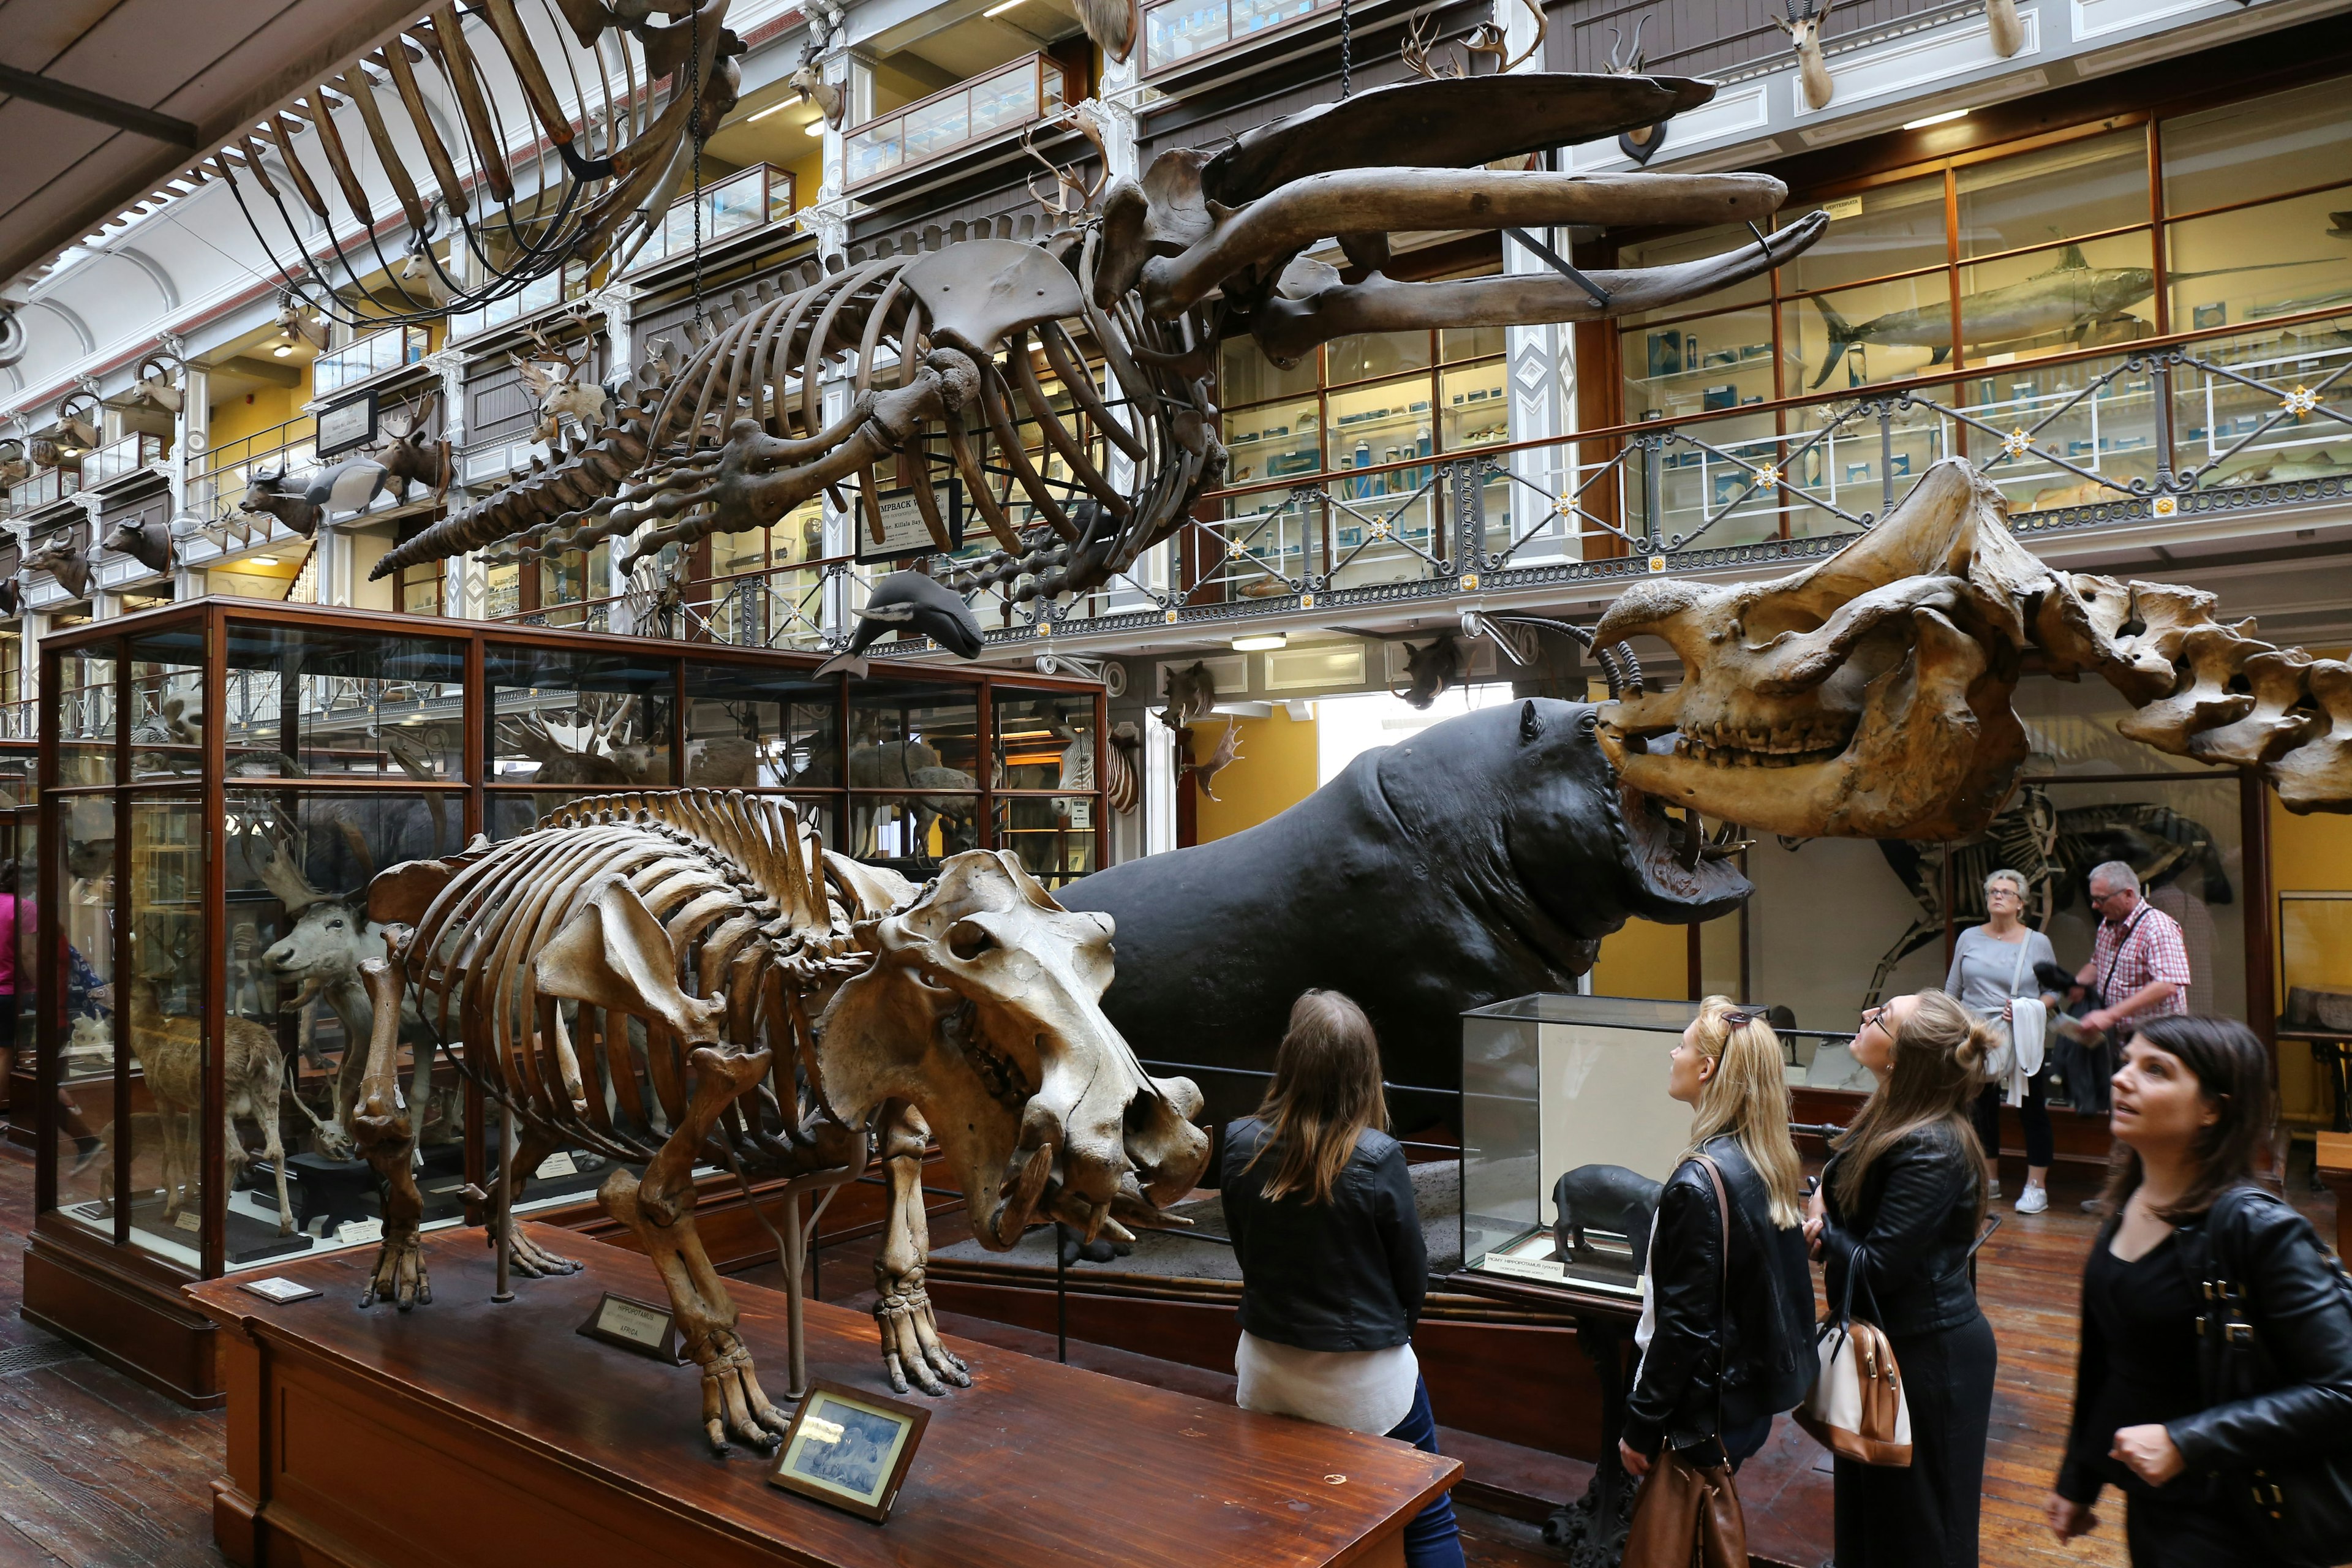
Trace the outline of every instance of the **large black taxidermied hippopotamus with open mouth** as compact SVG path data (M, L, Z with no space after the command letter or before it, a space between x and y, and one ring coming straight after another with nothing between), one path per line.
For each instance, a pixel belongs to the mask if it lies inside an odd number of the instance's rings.
M1628 919L1689 924L1748 896L1618 790L1597 724L1590 703L1482 708L1230 839L1080 877L1056 898L1117 922L1103 1011L1145 1060L1263 1072L1298 992L1343 990L1390 1081L1461 1086L1463 1009L1576 990ZM1263 1088L1200 1084L1221 1117Z

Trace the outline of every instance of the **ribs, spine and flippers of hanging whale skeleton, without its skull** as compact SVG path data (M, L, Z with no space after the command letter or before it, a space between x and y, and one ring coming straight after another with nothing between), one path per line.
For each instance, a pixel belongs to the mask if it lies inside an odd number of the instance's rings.
M649 414L623 411L555 465L393 550L376 576L501 538L513 543L496 562L555 557L661 522L637 541L633 567L666 543L774 522L826 489L840 498L847 482L875 538L877 496L903 487L948 552L936 487L955 475L1000 545L953 578L957 590L1004 585L1025 602L1096 588L1183 527L1225 451L1211 433L1211 383L1190 374L1195 360L1207 364L1209 313L1152 320L1131 294L1096 306L1094 244L1077 233L1047 244L967 240L863 261L790 294L769 284L762 301L739 292L731 324ZM828 425L823 374L844 360L851 404ZM1068 477L1040 470L1023 425L1047 468ZM1115 484L1115 463L1134 465L1134 480ZM1016 522L1023 503L1035 522Z

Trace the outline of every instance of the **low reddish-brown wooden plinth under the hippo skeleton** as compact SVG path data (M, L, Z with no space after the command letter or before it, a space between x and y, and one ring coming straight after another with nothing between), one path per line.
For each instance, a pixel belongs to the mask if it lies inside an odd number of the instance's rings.
M249 1568L797 1563L1033 1568L1402 1563L1402 1533L1461 1469L1385 1439L1251 1415L948 1340L974 1385L931 1425L889 1523L720 1462L699 1375L574 1333L604 1291L663 1300L637 1253L527 1227L588 1262L494 1305L482 1232L426 1239L433 1305L360 1309L372 1248L278 1269L322 1295L188 1286L219 1324L228 1479L214 1540ZM729 1284L769 1394L786 1298ZM889 1392L873 1319L809 1302L809 1373ZM913 1399L922 1399L915 1394Z

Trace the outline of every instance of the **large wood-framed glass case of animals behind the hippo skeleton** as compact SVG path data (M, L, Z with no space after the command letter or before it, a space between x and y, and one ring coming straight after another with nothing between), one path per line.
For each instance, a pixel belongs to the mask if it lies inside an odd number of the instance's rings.
M957 849L1014 849L1049 884L1101 863L1098 684L851 682L818 658L252 599L49 637L14 856L38 867L16 914L28 1316L89 1338L106 1276L153 1321L101 1324L122 1335L103 1347L151 1368L179 1356L153 1340L186 1324L181 1281L376 1241L348 1121L374 1023L358 966L383 954L367 889L390 865L675 785L793 799L830 849L917 882ZM496 1168L496 1117L433 1020L405 1009L400 1041L426 1225L480 1222L466 1190ZM602 1178L560 1152L517 1211L586 1218Z

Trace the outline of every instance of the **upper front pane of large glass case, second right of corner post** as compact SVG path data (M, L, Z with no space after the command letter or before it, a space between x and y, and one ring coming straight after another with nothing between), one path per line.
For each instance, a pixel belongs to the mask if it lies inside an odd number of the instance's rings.
M543 790L668 788L675 665L619 651L489 644L489 778Z

